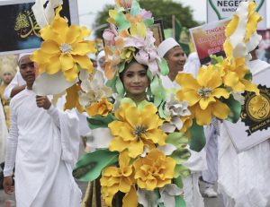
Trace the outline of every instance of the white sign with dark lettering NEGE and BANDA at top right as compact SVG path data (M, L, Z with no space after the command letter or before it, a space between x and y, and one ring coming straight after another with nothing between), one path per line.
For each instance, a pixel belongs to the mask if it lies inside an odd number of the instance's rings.
M214 22L225 18L231 18L238 5L246 0L207 0L207 22ZM266 0L255 0L257 13L263 17L257 30L266 30Z

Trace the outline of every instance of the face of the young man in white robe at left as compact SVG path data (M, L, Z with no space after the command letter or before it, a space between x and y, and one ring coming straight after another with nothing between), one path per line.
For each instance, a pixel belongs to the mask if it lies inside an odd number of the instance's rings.
M19 61L20 73L27 85L32 85L36 79L36 67L30 56L23 56Z

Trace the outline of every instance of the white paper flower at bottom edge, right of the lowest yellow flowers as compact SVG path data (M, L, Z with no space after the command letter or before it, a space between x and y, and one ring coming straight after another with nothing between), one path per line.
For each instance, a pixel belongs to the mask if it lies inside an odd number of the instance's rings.
M183 194L183 190L175 184L169 184L159 189L159 193L158 203L163 203L165 207L175 207L175 196Z

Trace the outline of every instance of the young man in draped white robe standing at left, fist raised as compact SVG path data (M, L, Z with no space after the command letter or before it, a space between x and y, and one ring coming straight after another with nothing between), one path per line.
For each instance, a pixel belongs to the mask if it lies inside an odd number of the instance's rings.
M72 177L79 149L78 118L54 108L47 97L36 96L35 67L29 57L19 62L27 87L10 104L4 191L13 192L15 164L17 207L78 207L81 191Z

